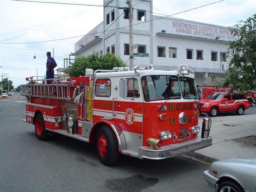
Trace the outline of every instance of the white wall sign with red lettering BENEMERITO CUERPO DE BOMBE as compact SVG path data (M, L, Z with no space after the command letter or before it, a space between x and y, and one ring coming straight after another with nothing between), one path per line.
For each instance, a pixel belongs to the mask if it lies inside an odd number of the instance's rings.
M234 39L229 29L208 26L204 24L194 24L187 22L172 21L171 32L178 35L195 36L201 38L219 39L230 41Z

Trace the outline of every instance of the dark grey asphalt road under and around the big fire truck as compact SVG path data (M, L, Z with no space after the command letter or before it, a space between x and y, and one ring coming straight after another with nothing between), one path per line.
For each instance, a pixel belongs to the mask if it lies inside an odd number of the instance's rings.
M34 126L22 122L20 101L25 98L0 102L1 192L210 192L202 176L209 165L185 156L153 161L122 155L107 167L94 144L58 134L40 141Z

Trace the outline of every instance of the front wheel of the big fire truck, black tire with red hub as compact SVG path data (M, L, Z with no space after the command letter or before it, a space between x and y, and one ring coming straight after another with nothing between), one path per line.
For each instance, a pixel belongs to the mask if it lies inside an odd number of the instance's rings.
M118 143L114 132L108 126L101 126L97 133L96 147L100 161L111 166L118 162Z

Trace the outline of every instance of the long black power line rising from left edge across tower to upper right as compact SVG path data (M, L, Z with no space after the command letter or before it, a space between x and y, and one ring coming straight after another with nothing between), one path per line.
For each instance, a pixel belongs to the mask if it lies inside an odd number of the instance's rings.
M217 1L217 2L213 2L213 3L210 3L210 4L206 4L206 5L199 6L199 7L196 7L196 8L192 8L192 9L189 9L189 10L185 10L185 11L182 11L182 12L178 12L178 13L175 13L175 14L171 14L171 15L168 15L168 16L164 16L164 17L160 17L160 18L155 18L155 19L148 20L148 21L145 21L145 22L142 22L142 23L147 23L147 22L151 22L151 21L154 21L154 20L159 20L159 19L167 18L167 17L173 16L173 15L177 15L177 14L180 14L180 13L188 12L188 11L195 10L195 9L198 9L198 8L202 8L202 7L205 7L205 6L208 6L208 5L216 4L216 3L222 2L222 1L224 1L224 0L220 0L220 1ZM131 25L131 26L139 25L139 24L142 24L142 23L133 24L133 25ZM130 25L124 26L124 27L120 27L120 28L116 28L116 29L112 29L112 30L105 30L105 31L102 31L102 32L114 31L114 30L118 30L118 29L122 29L122 28L127 28L127 27L129 27L129 26L130 26ZM97 33L101 33L101 32L97 32ZM74 37L70 37L70 38L62 38L62 39L38 41L38 42L20 42L20 43L2 43L2 42L0 42L0 44L31 44L31 43L51 42L51 41L66 40L66 39L72 39L72 38L83 37L83 36L88 36L88 35L94 35L94 34L97 34L97 33L91 33L91 34L86 34L86 35L74 36Z

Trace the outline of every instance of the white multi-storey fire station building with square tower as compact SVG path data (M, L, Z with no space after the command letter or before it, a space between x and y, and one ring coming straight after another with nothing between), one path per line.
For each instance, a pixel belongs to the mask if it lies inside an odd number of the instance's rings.
M128 7L125 1L118 0L104 0L104 5ZM234 38L227 27L153 15L152 0L133 1L132 6L133 44L138 44L134 66L153 64L157 70L175 70L178 64L189 64L197 84L203 84L209 73L223 72L220 63L225 62L228 41ZM112 52L126 63L128 26L128 10L105 7L104 20L76 42L73 55ZM146 57L136 53L146 53Z

